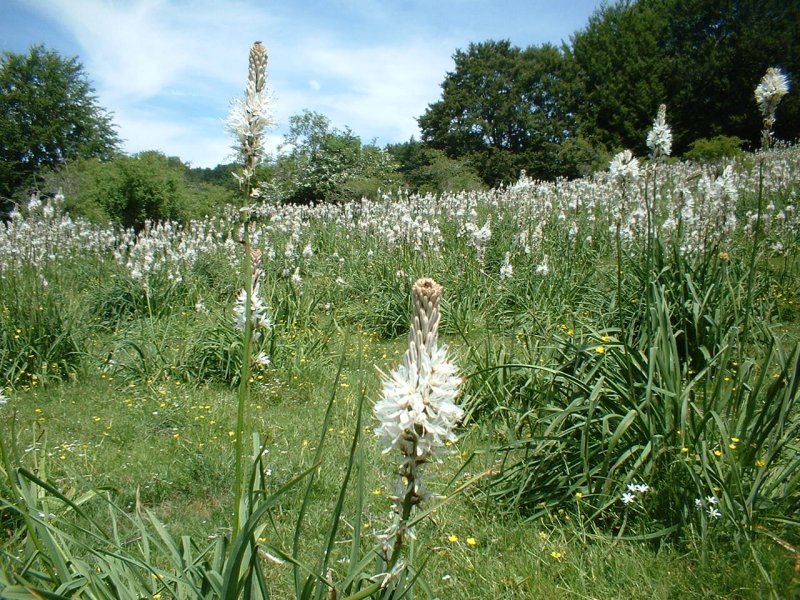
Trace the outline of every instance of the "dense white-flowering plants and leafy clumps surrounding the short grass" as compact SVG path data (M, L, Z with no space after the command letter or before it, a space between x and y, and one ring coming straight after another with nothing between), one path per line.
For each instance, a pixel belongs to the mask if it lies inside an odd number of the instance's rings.
M715 165L621 156L587 179L231 207L138 232L32 198L0 236L0 410L8 427L32 391L98 374L236 385L247 223L255 385L335 369L341 331L405 335L411 284L433 277L464 425L496 434L474 486L496 510L792 548L799 182L796 147Z

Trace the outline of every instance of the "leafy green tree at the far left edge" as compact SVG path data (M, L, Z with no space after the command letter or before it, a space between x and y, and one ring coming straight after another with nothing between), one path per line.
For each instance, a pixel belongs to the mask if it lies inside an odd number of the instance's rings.
M0 59L0 196L6 204L43 167L109 159L119 137L97 104L83 66L43 46Z

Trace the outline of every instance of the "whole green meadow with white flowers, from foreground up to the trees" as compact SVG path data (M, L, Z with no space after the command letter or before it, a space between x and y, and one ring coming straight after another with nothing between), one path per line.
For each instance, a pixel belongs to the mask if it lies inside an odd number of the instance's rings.
M0 595L247 597L225 583L245 564L275 598L395 577L370 570L399 462L376 367L431 277L465 414L396 581L797 597L800 148L617 167L141 231L32 199L0 228Z

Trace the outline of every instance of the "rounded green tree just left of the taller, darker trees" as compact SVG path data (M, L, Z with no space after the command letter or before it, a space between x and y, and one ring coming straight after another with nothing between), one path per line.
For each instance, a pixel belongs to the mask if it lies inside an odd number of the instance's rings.
M515 180L525 170L553 172L558 146L573 129L564 54L555 46L525 50L507 40L470 44L453 56L442 98L419 119L422 139L453 159L468 159L484 182Z

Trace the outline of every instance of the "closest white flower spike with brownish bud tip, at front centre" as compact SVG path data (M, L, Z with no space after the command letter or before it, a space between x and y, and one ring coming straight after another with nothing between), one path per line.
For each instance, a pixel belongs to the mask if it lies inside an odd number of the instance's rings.
M396 369L388 375L381 372L383 393L374 409L384 452L399 450L401 455L400 487L392 498L399 520L390 531L394 537L391 554L388 543L385 548L389 572L398 567L403 542L411 534L408 523L413 508L430 497L422 485L423 467L446 444L456 441L453 430L464 416L456 404L461 377L447 356L447 347L438 341L442 286L433 279L419 279L411 294L408 349Z

